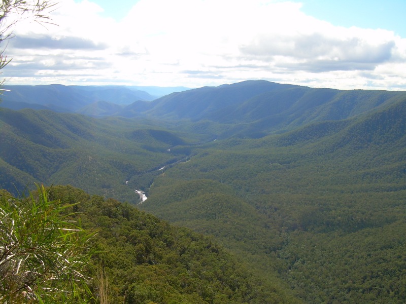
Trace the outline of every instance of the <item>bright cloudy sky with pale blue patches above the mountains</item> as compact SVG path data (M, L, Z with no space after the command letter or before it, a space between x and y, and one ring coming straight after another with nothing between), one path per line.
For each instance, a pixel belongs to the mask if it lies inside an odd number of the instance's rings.
M0 47L6 85L267 80L406 91L404 0L59 0ZM1 26L1 25L0 25ZM4 24L3 24L4 26Z

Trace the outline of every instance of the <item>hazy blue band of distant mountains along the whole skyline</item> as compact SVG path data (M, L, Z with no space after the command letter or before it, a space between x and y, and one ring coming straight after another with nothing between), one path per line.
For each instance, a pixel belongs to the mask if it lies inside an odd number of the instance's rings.
M113 86L14 86L1 106L29 107L92 117L213 121L250 128L252 133L291 130L311 122L343 120L406 100L406 92L335 90L244 81L174 92L156 98Z

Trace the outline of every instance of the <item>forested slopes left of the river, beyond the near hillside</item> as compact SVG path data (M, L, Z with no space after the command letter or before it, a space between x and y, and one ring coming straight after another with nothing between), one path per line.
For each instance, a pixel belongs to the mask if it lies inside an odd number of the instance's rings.
M190 153L182 149L168 152L194 139L162 128L140 121L134 124L119 119L96 120L51 111L3 108L0 158L4 171L0 184L6 187L16 183L18 191L31 181L73 184L91 193L134 201L137 197L133 187L148 188L159 173L157 169ZM25 184L22 175L29 176ZM16 191L13 186L6 188Z

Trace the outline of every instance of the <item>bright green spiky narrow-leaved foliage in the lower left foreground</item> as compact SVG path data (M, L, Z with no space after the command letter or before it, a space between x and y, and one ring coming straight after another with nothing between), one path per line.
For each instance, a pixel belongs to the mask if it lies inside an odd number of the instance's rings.
M84 270L89 235L66 209L74 205L36 195L14 198L0 193L0 302L86 302Z

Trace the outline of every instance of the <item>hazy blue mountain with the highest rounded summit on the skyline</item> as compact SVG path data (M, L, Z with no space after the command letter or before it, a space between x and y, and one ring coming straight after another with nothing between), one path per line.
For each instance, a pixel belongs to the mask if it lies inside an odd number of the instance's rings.
M396 100L406 100L406 93L341 91L246 81L164 96L155 100L145 115L235 124L237 132L242 129L275 132L316 121L355 117Z

